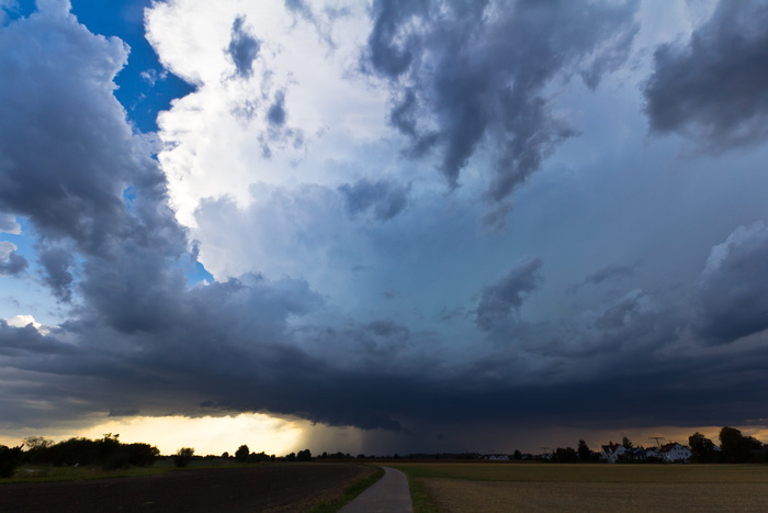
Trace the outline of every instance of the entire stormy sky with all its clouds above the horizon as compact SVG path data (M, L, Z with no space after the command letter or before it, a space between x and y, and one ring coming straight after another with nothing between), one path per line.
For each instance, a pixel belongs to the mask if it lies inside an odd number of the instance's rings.
M768 434L768 2L0 0L0 443Z

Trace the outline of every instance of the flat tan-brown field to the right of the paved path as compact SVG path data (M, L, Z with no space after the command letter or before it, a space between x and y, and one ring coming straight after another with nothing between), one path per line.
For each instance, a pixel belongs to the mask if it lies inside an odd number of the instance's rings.
M768 511L768 466L403 464L414 510Z

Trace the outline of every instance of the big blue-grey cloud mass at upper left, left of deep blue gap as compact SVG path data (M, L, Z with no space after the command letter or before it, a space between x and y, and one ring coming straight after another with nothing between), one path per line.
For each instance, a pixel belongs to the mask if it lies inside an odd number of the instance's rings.
M29 44L49 34L55 48ZM106 255L115 238L155 230L154 220L142 219L154 208L146 200L125 209L126 187L165 193L156 163L112 96L110 78L126 58L120 40L92 35L71 15L36 13L0 34L0 210L87 254Z

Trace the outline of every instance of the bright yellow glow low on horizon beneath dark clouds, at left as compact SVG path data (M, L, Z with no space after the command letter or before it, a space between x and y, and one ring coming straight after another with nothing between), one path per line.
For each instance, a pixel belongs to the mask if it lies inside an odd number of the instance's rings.
M278 456L300 450L304 438L304 422L275 419L260 413L244 413L237 416L189 419L184 416L163 417L117 417L81 430L46 435L55 442L82 436L101 438L106 433L120 435L126 444L144 442L157 446L163 455L173 454L180 447L194 447L197 455L235 454L241 445L253 453L264 451ZM37 435L38 433L32 433ZM29 435L23 435L29 436ZM22 439L1 437L5 445L18 445Z

